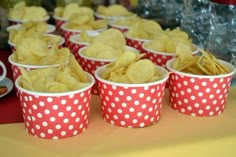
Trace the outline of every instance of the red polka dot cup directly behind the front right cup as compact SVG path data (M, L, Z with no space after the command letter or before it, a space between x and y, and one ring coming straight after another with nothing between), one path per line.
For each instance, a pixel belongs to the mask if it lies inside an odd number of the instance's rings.
M145 54L146 58L150 59L156 65L166 68L167 61L177 57L176 53L167 53L151 50L145 46L146 44L148 44L148 42L145 42L142 45L143 53ZM199 49L195 45L193 46L193 49L194 50L192 54L196 55L199 52Z

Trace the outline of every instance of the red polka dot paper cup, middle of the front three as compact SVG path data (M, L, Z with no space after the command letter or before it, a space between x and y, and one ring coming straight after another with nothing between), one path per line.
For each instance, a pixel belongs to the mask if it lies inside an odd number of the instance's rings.
M161 80L144 84L124 84L101 78L106 65L98 68L102 117L110 124L120 127L140 128L157 123L162 114L165 84L168 79L166 69L157 66L164 76Z

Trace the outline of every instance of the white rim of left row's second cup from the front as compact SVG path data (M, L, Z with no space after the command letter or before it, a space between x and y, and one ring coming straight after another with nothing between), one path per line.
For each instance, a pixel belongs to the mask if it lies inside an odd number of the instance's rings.
M17 63L15 61L12 60L12 56L13 54L11 54L8 57L8 61L10 62L11 65L15 65L17 67L23 67L23 68L30 68L30 69L41 69L41 68L48 68L48 67L58 67L61 64L49 64L49 65L31 65L31 64L21 64L21 63ZM68 62L66 62L65 64L67 64ZM64 63L62 63L64 64Z

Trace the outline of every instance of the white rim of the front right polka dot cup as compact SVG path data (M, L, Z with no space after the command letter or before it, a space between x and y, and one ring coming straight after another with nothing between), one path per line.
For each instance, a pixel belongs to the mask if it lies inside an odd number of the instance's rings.
M228 68L230 68L231 72L226 73L226 74L220 74L220 75L197 75L197 74L190 74L190 73L181 72L181 71L178 71L178 70L172 68L172 63L175 60L176 60L176 58L172 58L172 59L168 60L167 63L166 63L166 68L170 72L174 72L176 74L179 74L179 75L182 75L182 76L186 76L186 77L194 77L194 78L222 78L222 77L231 76L231 75L233 75L236 72L236 68L232 64L230 64L230 63L228 63L226 61L218 59L218 61L220 61L221 63L226 65Z

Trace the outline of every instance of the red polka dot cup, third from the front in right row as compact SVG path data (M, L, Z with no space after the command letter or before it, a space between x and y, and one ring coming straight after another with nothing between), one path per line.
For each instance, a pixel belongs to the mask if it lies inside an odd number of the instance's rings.
M126 39L126 45L136 48L140 51L140 53L143 53L143 43L150 42L151 40L148 39L138 39L133 38L127 35L127 33L124 33L125 39Z

